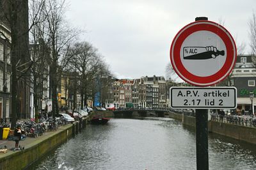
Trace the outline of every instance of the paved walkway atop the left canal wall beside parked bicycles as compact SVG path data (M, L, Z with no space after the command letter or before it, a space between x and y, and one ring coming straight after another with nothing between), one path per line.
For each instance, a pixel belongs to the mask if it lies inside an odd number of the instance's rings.
M45 139L51 137L54 134L57 134L61 130L64 130L68 127L72 126L72 124L68 124L62 127L58 127L56 131L51 131L51 132L45 132L43 135L38 136L38 137L26 137L24 141L19 141L19 145L21 148L24 147L24 149L29 148L35 144L40 143L41 141L44 141ZM7 139L0 140L0 150L1 149L8 149L7 153L0 153L0 158L5 157L7 155L12 154L15 151L12 151L11 149L15 148L15 141L8 141Z

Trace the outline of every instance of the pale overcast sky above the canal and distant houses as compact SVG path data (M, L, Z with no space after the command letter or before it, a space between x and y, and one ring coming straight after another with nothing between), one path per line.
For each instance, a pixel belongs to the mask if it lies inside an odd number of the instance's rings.
M70 0L67 19L86 31L118 79L163 75L177 32L205 16L228 29L237 45L251 52L248 22L255 0ZM224 24L223 24L224 23Z

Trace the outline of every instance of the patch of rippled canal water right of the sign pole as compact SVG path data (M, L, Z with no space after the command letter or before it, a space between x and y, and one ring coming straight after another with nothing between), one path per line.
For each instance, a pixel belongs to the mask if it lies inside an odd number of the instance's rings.
M209 157L212 166L223 164L225 169L256 169L255 145L230 137L210 134Z

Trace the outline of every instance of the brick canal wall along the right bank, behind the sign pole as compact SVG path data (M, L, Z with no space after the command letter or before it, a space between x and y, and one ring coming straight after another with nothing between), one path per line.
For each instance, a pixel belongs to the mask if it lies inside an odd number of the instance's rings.
M196 127L196 119L194 116L186 116L185 114L177 114L170 112L170 118L182 121L183 125ZM247 143L256 144L256 128L246 127L243 125L234 125L232 123L223 123L219 121L208 121L209 132L225 135L234 139L245 141Z

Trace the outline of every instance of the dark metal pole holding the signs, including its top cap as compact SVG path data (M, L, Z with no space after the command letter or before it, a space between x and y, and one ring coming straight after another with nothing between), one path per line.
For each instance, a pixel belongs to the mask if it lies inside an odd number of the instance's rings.
M208 18L196 17L195 20L208 20ZM196 169L209 169L207 109L196 109Z

